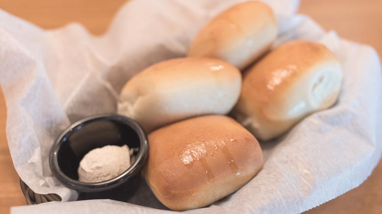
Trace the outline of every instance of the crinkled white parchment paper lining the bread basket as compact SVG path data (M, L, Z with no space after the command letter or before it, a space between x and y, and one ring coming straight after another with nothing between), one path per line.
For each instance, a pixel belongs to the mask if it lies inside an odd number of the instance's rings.
M167 213L113 200L72 201L48 166L50 147L76 120L116 112L118 93L150 64L185 55L201 26L242 0L130 0L107 33L73 23L43 30L0 11L0 83L15 168L36 193L64 202L12 208L12 213ZM236 193L189 213L301 213L361 184L382 151L381 64L374 49L324 32L294 15L298 0L264 0L275 11L279 38L325 44L343 65L334 107L305 118L279 140L263 143L264 167ZM72 202L65 202L72 201Z

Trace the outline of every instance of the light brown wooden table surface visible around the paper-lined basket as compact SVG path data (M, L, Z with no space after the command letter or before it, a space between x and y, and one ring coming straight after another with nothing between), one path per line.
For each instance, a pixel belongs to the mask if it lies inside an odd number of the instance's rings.
M126 0L0 0L0 8L49 29L77 21L102 34ZM373 46L382 56L382 0L301 0L299 13L307 14L326 30L344 39ZM6 106L0 90L0 214L26 205L5 135ZM381 214L382 161L358 188L306 214Z

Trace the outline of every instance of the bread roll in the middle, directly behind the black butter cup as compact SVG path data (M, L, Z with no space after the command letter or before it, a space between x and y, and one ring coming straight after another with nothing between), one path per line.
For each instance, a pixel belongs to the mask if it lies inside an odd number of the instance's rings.
M135 75L120 92L118 113L150 132L203 114L227 114L235 106L241 73L218 59L178 58Z

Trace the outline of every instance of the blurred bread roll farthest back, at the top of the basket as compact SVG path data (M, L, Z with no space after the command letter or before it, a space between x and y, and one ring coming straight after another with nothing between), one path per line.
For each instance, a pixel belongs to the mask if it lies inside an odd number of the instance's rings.
M268 50L277 31L268 5L240 3L208 22L192 41L187 56L218 58L242 70Z

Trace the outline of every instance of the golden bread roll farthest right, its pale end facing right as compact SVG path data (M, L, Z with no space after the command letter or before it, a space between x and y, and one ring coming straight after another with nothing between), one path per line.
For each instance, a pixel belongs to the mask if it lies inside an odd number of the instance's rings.
M232 116L256 138L269 140L307 115L331 107L341 80L341 64L324 45L287 42L243 74Z

